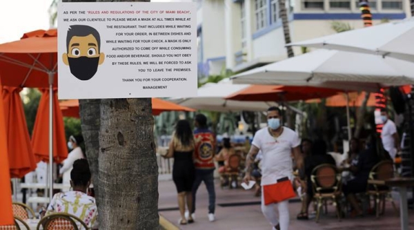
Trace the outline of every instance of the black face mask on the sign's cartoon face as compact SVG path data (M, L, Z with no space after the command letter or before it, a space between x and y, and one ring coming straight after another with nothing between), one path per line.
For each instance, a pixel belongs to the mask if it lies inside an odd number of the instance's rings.
M68 57L70 73L81 81L91 79L97 73L99 57Z

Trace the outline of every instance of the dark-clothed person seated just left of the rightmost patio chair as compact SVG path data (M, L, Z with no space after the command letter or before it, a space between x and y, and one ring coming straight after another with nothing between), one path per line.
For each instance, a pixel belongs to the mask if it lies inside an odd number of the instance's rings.
M366 150L359 153L351 162L351 166L344 169L352 173L351 180L342 186L346 200L353 208L352 216L362 215L362 208L359 207L355 194L366 191L369 172L378 162L380 162L380 157L377 155L377 137L373 134L366 140Z

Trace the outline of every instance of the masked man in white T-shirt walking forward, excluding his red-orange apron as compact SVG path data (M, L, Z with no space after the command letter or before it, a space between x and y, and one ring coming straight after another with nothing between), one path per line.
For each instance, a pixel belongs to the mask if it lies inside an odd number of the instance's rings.
M277 184L293 179L292 153L298 169L303 171L303 158L300 154L300 140L295 131L282 126L282 113L277 107L268 108L268 127L257 131L246 159L244 182L251 180L255 157L262 151L262 186ZM264 189L262 189L264 190ZM288 200L277 202L279 220L274 204L266 205L262 191L262 212L274 230L288 230Z

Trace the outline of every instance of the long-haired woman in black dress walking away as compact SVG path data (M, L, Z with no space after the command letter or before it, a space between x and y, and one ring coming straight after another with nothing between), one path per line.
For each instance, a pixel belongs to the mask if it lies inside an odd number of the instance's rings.
M193 164L195 140L190 122L181 119L175 126L175 133L168 147L168 153L164 157L174 157L172 166L172 180L177 188L177 199L181 219L179 224L193 223L191 216L186 218L186 203L188 210L193 209L193 184L195 180L195 168Z

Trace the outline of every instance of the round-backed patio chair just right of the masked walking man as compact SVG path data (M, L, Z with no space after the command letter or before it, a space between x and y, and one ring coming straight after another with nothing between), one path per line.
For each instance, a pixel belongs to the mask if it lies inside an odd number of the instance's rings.
M332 200L336 208L337 218L341 221L341 208L339 199L342 197L342 176L337 167L332 164L321 164L311 173L313 185L313 198L317 201L315 221L319 222L322 205L326 200Z

